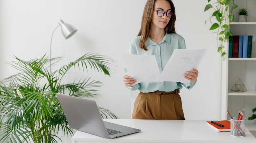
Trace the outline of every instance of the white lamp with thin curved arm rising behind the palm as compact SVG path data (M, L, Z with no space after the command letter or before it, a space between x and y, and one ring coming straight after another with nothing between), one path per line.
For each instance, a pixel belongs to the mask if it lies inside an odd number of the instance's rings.
M70 38L77 31L77 29L73 25L64 23L61 19L58 22L59 22L59 25L53 30L53 33L59 26L61 26L61 32L65 39ZM50 74L52 72L52 69L51 69L52 68L52 40L53 40L53 34L52 34L51 45L50 45Z

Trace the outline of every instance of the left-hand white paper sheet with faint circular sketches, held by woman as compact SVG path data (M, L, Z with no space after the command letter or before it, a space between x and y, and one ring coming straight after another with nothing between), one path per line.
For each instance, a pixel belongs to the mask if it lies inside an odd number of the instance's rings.
M123 54L128 75L134 77L137 83L163 82L159 81L160 71L156 56Z

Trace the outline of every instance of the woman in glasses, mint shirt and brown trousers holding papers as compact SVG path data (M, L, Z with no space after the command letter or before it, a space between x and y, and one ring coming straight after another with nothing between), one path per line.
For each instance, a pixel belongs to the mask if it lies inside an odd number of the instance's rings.
M185 49L185 40L175 32L175 21L175 8L171 0L148 0L138 37L130 42L129 53L155 55L159 70L162 72L174 49ZM127 75L126 69L125 73L123 81L126 87L141 91L134 104L132 119L185 119L179 93L182 85L188 89L195 85L197 69L184 73L184 78L189 80L186 84L135 84L136 79Z

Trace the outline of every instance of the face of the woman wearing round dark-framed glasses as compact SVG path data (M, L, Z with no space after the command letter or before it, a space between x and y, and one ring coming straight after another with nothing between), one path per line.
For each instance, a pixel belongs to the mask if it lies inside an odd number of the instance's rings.
M171 5L166 0L155 1L154 10L171 11ZM157 11L153 11L151 25L155 28L163 29L170 21L170 17L167 17L165 12L162 17L158 16Z

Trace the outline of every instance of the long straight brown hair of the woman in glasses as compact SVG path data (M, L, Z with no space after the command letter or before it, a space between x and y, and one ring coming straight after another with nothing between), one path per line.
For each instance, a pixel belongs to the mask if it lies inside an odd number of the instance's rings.
M156 1L157 0L147 0L144 11L143 11L143 15L142 15L141 27L140 27L138 36L141 36L139 40L139 47L141 49L144 49L145 51L147 51L145 44L148 39L153 9ZM171 5L171 11L173 12L173 15L169 23L165 26L164 30L166 31L166 33L176 33L175 27L174 27L174 24L176 21L175 8L171 0L166 0L166 1L168 1Z

